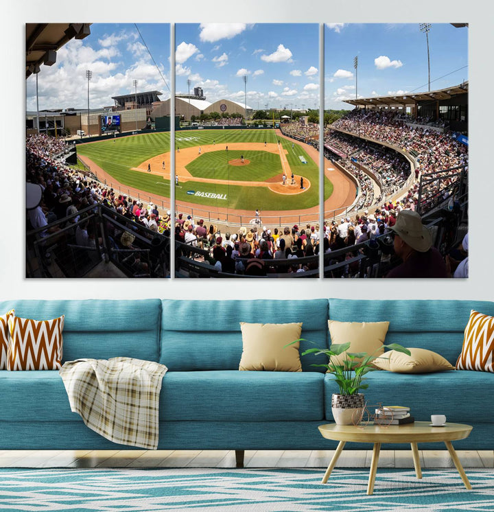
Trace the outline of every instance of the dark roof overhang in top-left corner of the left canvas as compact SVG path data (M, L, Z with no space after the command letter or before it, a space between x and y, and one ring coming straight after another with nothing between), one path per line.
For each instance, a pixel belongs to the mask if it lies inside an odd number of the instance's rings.
M26 78L40 65L54 65L56 52L69 40L91 34L91 23L26 23Z

